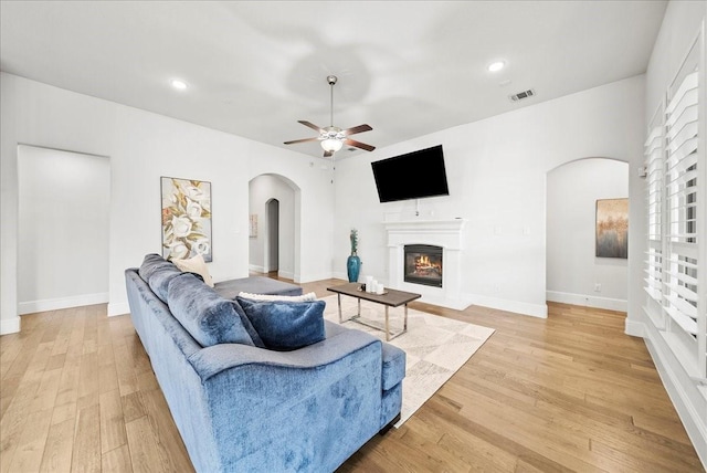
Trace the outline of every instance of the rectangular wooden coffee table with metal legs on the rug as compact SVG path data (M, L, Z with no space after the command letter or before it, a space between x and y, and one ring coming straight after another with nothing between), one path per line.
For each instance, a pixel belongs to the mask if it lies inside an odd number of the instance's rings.
M327 287L327 291L337 293L336 294L337 301L339 303L339 324L342 324L348 320L352 320L361 325L366 325L367 327L382 330L386 334L386 341L390 341L393 338L408 332L408 303L422 297L421 294L407 293L404 291L395 291L395 290L386 290L384 294L367 293L366 291L361 291L360 283L347 283L347 284L341 284L340 286ZM356 297L358 299L358 313L355 316L347 318L346 320L344 320L344 317L341 315L341 294L347 295L349 297ZM386 324L384 325L377 323L374 320L369 320L365 317L361 317L361 299L374 302L386 306ZM391 333L388 309L389 307L399 307L401 305L405 306L402 330L397 333Z

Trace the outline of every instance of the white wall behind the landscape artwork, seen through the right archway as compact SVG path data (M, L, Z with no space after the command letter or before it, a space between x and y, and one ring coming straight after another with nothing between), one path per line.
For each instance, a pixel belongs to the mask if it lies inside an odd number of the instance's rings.
M626 311L629 261L597 257L594 235L597 200L627 197L626 162L589 158L548 172L548 301Z

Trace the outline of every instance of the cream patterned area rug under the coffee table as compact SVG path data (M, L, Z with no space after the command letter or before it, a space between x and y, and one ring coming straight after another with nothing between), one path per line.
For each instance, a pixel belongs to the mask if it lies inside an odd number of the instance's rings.
M324 316L339 322L337 296L324 297L327 303ZM341 296L344 319L356 315L357 299ZM390 308L389 319L393 333L402 328L403 307ZM382 323L386 308L380 304L361 301L361 316ZM369 333L381 340L381 330L356 322L345 322L345 327ZM494 333L452 318L408 309L408 332L390 341L407 354L405 379L402 383L402 412L395 428L402 425L422 404L432 397L458 370Z

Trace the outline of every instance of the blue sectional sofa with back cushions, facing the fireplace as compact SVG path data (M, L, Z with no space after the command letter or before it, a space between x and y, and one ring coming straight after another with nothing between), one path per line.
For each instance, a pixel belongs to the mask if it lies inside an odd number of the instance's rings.
M159 260L126 270L130 316L197 471L330 472L394 422L404 351L324 319L316 343L258 347L242 305L268 303L225 298Z

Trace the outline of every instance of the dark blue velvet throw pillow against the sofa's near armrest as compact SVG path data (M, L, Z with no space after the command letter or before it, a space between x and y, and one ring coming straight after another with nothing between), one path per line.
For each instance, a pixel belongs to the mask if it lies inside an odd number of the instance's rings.
M252 301L236 297L266 348L294 350L325 338L324 301Z

